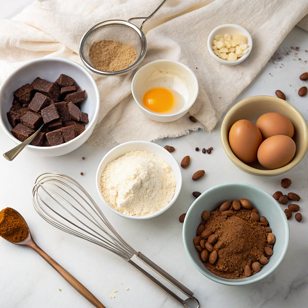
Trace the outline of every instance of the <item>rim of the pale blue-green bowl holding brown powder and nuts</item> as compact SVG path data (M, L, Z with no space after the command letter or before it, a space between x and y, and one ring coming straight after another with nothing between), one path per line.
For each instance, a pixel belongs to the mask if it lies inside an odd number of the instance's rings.
M232 185L239 185L239 186L242 186L244 189L245 188L253 188L253 189L256 189L258 190L258 192L260 194L263 194L264 196L268 197L269 200L271 200L270 198L273 199L273 197L267 193L265 190L263 190L262 188L259 188L255 185L251 185L251 184L247 184L247 183L239 183L239 182L235 182L235 183L225 183L225 184L219 184L219 185L216 185L216 186L213 186L209 189L207 189L204 193L201 194L201 196L205 196L207 195L208 193L218 189L218 188L230 188L230 186ZM200 196L200 197L201 197ZM193 212L194 210L194 206L197 204L197 202L199 202L201 199L199 199L200 197L198 197L194 202L193 204L189 207L187 213L186 213L186 216L185 217L188 217L190 215L190 213ZM199 199L199 201L198 201ZM274 199L273 199L274 200ZM274 200L275 201L275 200ZM184 242L184 247L185 247L185 250L186 250L186 253L188 254L188 257L190 259L190 261L193 263L193 265L196 267L196 269L201 273L203 274L205 277L215 281L215 282L218 282L218 283L221 283L221 284L224 284L224 285L229 285L229 286L243 286L243 285L247 285L247 284L250 284L250 283L253 283L253 282L257 282L263 278L265 278L266 276L268 276L269 274L271 274L277 267L278 265L281 263L281 261L283 260L283 258L285 257L286 255L286 251L288 249L288 246L289 246L289 240L290 240L290 228L289 228L289 223L288 223L288 220L286 218L286 215L285 213L283 212L282 208L280 207L280 205L278 204L278 202L276 203L273 203L274 204L274 207L278 209L279 212L283 213L283 215L281 216L282 217L282 220L284 222L284 227L285 227L285 230L286 230L286 237L284 239L285 243L284 243L284 248L283 248L283 251L281 253L281 255L279 256L279 259L276 261L275 265L270 269L270 270L266 270L264 271L264 274L261 274L260 276L257 276L257 277L252 277L250 276L249 278L250 279L247 279L245 280L245 278L241 278L241 279L227 279L227 278L222 278L220 276L217 276L215 275L214 277L209 275L205 270L203 270L198 264L197 262L194 260L194 258L192 257L189 249L188 249L188 244L186 242L186 239L185 239L185 234L186 234L186 224L187 222L185 223L185 220L184 220L184 225L183 225L183 242ZM187 221L187 220L186 220ZM193 239L192 239L193 240ZM247 277L248 278L248 277Z

